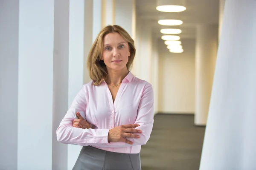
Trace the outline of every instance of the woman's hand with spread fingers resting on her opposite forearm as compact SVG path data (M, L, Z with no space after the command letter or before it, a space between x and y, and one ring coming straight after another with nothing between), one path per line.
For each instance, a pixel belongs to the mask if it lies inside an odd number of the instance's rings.
M132 133L142 133L141 130L134 129L134 127L138 127L140 125L121 125L118 127L114 127L113 129L109 130L108 133L108 142L125 142L128 144L133 144L133 142L125 139L125 137L130 138L140 138L139 135L135 135Z

